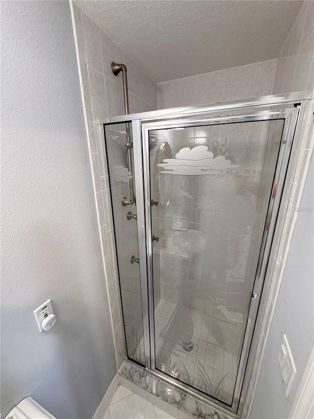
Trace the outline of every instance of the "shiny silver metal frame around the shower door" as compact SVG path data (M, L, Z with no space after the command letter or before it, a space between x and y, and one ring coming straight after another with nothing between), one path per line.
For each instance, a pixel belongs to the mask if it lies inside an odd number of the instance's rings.
M244 382L244 373L249 356L255 322L262 296L262 287L266 275L269 252L276 226L276 219L280 208L280 201L285 185L285 176L288 168L289 155L293 143L295 128L298 120L302 122L306 114L308 100L311 95L307 92L291 93L288 95L271 95L251 100L233 101L227 103L191 106L162 111L143 112L133 115L107 118L104 125L117 122L131 121L134 180L137 210L137 232L139 243L140 281L142 294L143 331L146 368L170 384L175 385L190 394L211 400L232 412L236 412ZM295 104L295 107L291 107ZM267 109L278 105L278 109ZM259 108L256 111L256 108ZM261 108L265 108L262 109ZM226 112L240 111L237 114ZM243 110L243 112L242 112ZM216 113L221 112L217 115ZM211 114L215 112L214 116ZM206 115L206 116L204 116ZM181 118L182 119L179 119ZM178 119L177 119L178 118ZM154 290L153 290L153 250L152 250L152 227L151 227L151 202L150 202L150 161L149 161L149 131L154 129L166 129L173 127L216 125L221 123L248 122L269 119L285 119L282 141L279 150L277 167L273 185L278 184L277 192L272 188L271 199L268 207L267 218L270 224L264 231L261 254L258 262L257 276L254 283L253 293L258 296L251 300L248 320L252 319L250 331L245 332L241 358L235 383L235 393L232 405L219 401L210 395L207 396L197 389L171 378L157 371L155 368L155 321L154 321ZM247 374L246 374L247 375Z

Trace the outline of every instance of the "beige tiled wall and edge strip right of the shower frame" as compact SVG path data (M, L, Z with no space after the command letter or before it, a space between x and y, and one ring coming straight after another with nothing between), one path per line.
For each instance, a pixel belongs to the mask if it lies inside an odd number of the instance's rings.
M314 1L305 1L278 56L273 93L308 90L312 91L313 98L313 89ZM281 237L278 237L276 241L277 245L271 254L270 270L268 273L271 278L269 281L270 288L264 291L264 298L267 301L266 309L264 313L260 313L263 315L258 319L259 323L262 324L262 334L257 342L255 356L250 360L253 365L253 373L243 406L244 418L250 416L271 320L284 275L293 228L298 216L304 183L313 152L313 111L314 103L312 100L309 117L301 135L301 140L294 154L291 156L291 163L294 166L294 170L288 176L288 188L284 197L283 211L279 219L279 229L282 230L282 234Z

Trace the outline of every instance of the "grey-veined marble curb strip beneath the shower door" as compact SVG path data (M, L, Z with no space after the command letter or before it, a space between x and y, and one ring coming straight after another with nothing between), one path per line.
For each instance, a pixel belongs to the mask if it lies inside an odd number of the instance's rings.
M147 398L154 404L157 404L157 399L160 399L180 410L186 417L191 419L238 419L236 415L228 410L211 402L205 403L197 396L191 396L187 392L156 377L149 370L128 360L122 364L119 376L125 379L121 384L128 387L128 383L126 383L128 380L132 383L131 388L129 386L130 390L141 397ZM140 389L139 392L136 391L136 387ZM149 394L146 394L146 392ZM167 411L165 405L160 408ZM169 414L173 415L171 412ZM183 418L183 416L180 416L180 418Z

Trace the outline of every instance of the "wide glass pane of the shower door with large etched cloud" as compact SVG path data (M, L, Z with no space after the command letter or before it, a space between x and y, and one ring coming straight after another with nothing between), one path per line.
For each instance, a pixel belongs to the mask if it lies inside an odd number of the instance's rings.
M283 127L149 133L156 368L229 405Z

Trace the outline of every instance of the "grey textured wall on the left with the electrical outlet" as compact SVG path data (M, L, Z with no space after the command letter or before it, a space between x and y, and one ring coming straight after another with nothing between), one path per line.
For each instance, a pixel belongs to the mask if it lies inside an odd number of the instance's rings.
M1 417L31 395L91 418L116 360L70 7L3 1L1 20Z

